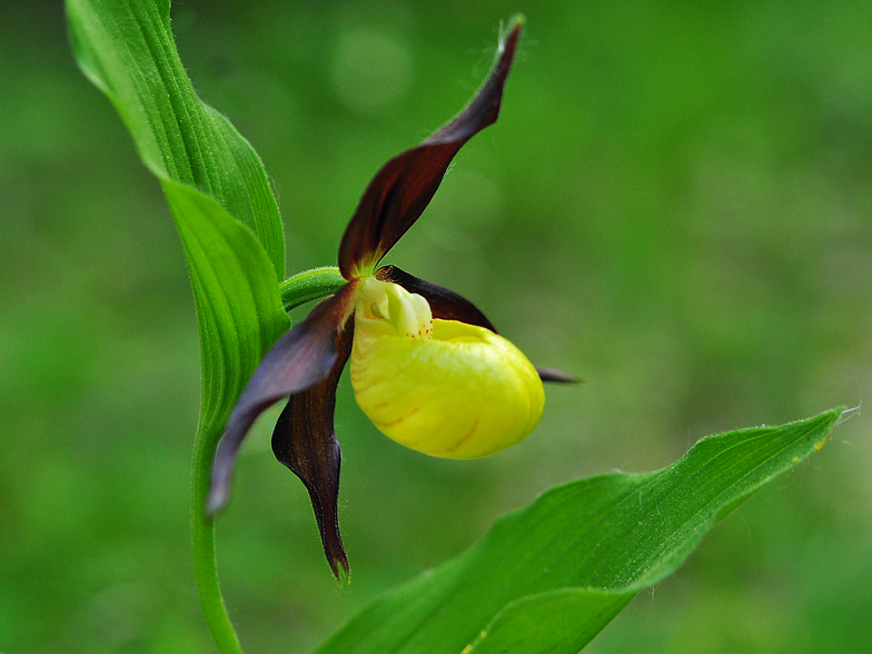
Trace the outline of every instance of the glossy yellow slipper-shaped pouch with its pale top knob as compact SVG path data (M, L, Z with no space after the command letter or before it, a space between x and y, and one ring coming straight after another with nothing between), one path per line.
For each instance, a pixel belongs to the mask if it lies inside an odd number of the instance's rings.
M433 319L419 295L374 277L355 311L351 385L378 429L412 449L449 458L494 454L542 417L536 369L508 340Z

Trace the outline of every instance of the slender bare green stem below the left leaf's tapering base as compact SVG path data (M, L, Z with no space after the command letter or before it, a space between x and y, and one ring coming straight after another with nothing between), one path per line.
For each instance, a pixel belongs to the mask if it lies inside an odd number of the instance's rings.
M200 607L209 626L215 645L221 654L242 654L239 638L234 631L230 616L221 596L218 583L218 568L215 559L215 518L208 517L204 507L209 493L215 449L218 435L208 432L197 433L194 440L194 463L191 467L191 548L194 552L194 575Z

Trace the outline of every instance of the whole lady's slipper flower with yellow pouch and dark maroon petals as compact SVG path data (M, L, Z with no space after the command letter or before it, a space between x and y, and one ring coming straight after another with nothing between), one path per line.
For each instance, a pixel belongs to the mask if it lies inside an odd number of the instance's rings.
M242 392L215 458L207 511L224 507L239 446L255 419L288 397L276 457L306 485L334 574L348 561L337 523L339 445L334 405L350 357L355 398L386 436L434 456L473 458L525 438L542 416L535 368L472 303L382 258L424 211L460 147L499 112L523 21L515 20L478 93L417 148L388 161L366 189L339 246L347 284L283 336Z

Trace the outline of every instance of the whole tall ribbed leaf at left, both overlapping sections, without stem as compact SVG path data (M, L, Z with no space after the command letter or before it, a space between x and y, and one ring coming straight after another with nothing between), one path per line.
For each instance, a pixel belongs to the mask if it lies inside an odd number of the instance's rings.
M288 328L281 221L251 146L194 92L169 2L67 0L79 66L160 180L191 275L202 348L201 433L217 438L257 363Z

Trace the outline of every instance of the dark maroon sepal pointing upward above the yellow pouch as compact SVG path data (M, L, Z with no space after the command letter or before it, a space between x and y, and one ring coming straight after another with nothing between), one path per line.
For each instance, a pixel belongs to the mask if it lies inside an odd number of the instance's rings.
M339 245L343 277L353 279L382 260L429 204L457 150L496 121L522 27L516 20L490 76L466 108L420 146L388 161L369 182Z

